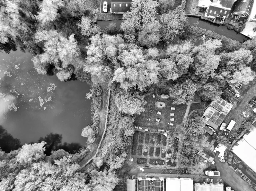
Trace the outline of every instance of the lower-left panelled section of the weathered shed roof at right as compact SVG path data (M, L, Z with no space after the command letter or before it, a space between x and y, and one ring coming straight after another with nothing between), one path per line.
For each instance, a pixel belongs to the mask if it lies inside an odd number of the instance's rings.
M224 115L223 113L221 113L220 111L218 111L217 109L211 106L205 109L203 116L209 118L212 122L216 123L218 126L222 123L222 121L226 117L226 115Z

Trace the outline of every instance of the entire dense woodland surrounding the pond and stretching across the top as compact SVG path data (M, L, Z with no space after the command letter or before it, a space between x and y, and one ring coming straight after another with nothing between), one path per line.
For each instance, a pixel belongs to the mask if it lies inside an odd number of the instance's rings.
M85 14L97 5L94 0L0 1L1 50L8 53L18 46L30 51L39 74L99 82L87 95L94 116L82 136L89 145L99 128L100 84L112 83L107 131L90 172L78 165L87 150L71 154L60 145L47 145L47 138L20 148L13 140L13 147L0 152L0 190L111 191L128 163L133 116L144 111L150 92L157 88L176 104L186 104L195 94L214 99L229 85L248 84L255 77L256 39L241 44L207 31L195 46L205 30L190 26L183 4L173 9L169 0L134 0L120 29L111 23L104 30ZM183 41L174 44L177 38ZM192 113L178 133L184 152L177 158L184 165L196 162L204 125L199 113Z

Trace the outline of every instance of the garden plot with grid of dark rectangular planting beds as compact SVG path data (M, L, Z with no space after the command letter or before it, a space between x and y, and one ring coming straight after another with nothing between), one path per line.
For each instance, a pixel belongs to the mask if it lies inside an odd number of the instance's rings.
M135 131L132 145L132 157L136 164L164 165L175 167L178 152L178 138L167 144L167 137L163 134Z

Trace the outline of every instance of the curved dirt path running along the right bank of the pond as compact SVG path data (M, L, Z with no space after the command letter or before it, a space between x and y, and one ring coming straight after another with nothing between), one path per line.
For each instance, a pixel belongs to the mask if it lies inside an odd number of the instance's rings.
M92 161L92 159L96 156L99 146L101 144L101 141L102 141L105 131L106 131L111 83L109 82L108 86L106 86L106 84L100 84L100 86L103 89L103 97L102 97L103 104L102 104L102 109L99 112L97 112L100 116L99 132L96 136L96 140L95 140L94 144L91 145L91 147L90 147L90 152L86 155L85 158L83 158L79 162L81 169L83 167L85 167L90 161Z

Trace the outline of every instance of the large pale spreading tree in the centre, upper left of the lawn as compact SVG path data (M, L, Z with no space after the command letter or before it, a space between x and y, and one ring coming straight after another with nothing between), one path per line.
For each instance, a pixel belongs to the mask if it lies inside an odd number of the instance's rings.
M120 82L124 90L136 88L142 91L145 87L158 81L158 61L146 60L141 47L130 45L119 46L121 68L114 72L113 81Z

